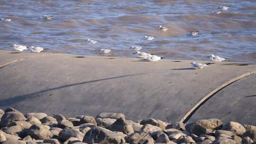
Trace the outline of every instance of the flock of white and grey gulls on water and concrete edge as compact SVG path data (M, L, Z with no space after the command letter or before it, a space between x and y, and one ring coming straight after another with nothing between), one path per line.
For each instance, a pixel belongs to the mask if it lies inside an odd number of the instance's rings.
M220 6L219 7L219 11L216 11L216 12L212 12L214 14L219 14L222 12L222 10L227 10L229 9L229 7L227 6ZM54 16L47 16L47 15L44 15L43 18L46 19L46 20L51 20ZM7 21L7 22L10 22L12 21L12 19L10 18L0 18L1 21ZM167 31L169 30L170 28L169 27L163 27L163 26L158 26L158 28L162 31ZM193 31L191 33L188 33L188 36L197 36L199 34L199 31ZM152 41L153 39L155 39L156 36L144 36L143 39L144 40L148 40L148 41ZM96 40L91 40L91 39L87 39L85 40L85 42L89 43L89 44L96 44L98 43L98 41ZM24 45L12 45L13 49L15 51L19 51L19 52L22 52L24 50L29 50L30 52L32 53L40 53L44 50L46 50L47 48L43 48L43 47L39 47L39 46L29 46L27 48L27 46L24 46ZM147 61L150 61L150 62L155 62L155 61L159 61L161 59L163 59L163 57L160 57L160 56L157 56L157 55L154 55L154 54L147 54L145 52L140 52L139 50L142 49L141 46L131 46L129 47L129 49L132 49L135 51L135 53L133 54L136 54L136 57L137 58L146 58ZM110 53L112 50L110 49L100 49L99 52L100 53L104 53L104 54L107 54L107 53ZM210 61L215 61L215 62L222 62L224 60L227 60L225 58L222 58L222 57L219 57L217 55L213 55L211 54L210 56L208 56ZM207 67L208 65L207 64L204 64L204 63L196 63L196 62L192 62L190 63L191 64L191 68L192 69L201 69L203 67Z

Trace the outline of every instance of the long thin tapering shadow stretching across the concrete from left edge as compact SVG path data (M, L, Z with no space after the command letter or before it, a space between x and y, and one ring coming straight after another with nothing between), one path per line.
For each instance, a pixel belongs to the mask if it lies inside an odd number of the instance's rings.
M111 80L111 79L119 79L119 78L124 78L124 77L129 77L129 76L136 76L136 75L143 75L143 74L147 74L147 73L137 73L137 74L130 74L130 75L123 75L123 76L118 76L118 77L111 77L111 78L93 80L93 81L83 81L83 82L78 82L78 83L73 83L73 84L68 84L68 85L64 85L64 86L55 87L55 88L52 88L52 89L41 90L41 91L37 91L37 92L34 92L34 93L30 93L30 94L18 95L18 96L14 96L13 98L0 100L0 107L12 105L12 104L18 103L20 101L23 101L25 99L33 99L33 98L36 98L36 95L47 92L47 91L51 91L51 90L64 89L64 88L67 88L67 87L73 87L73 86L76 86L76 85L81 85L81 84L86 84L86 83L91 83L91 82L106 81L106 80Z

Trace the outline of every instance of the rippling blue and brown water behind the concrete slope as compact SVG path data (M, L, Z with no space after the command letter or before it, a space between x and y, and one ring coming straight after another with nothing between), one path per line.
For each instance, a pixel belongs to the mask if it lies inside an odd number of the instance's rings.
M219 6L228 6L212 14ZM52 20L43 15L54 15ZM36 45L47 52L133 56L130 46L172 59L217 54L256 62L256 0L0 0L0 48ZM160 31L157 26L170 27ZM187 33L199 30L198 36ZM143 36L156 36L145 41ZM99 41L87 44L85 39Z

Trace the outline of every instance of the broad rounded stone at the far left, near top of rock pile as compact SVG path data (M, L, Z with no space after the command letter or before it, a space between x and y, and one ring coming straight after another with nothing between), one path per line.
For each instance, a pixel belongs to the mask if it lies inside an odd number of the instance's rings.
M7 124L9 122L14 122L14 121L26 121L26 117L24 117L24 115L19 112L6 112L1 117L0 125L4 126L5 124Z

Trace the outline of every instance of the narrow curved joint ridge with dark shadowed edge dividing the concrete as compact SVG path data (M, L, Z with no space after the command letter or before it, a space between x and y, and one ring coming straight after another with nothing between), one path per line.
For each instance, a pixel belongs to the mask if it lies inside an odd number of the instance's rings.
M186 114L185 116L180 120L180 122L186 123L190 117L192 117L192 115L196 112L197 109L199 109L208 99L210 99L211 97L213 97L219 90L222 90L223 88L227 87L229 84L238 81L242 78L245 78L249 75L255 74L256 71L253 72L247 72L244 73L236 78L233 78L229 81L227 81L226 83L220 85L218 88L216 88L215 90L211 91L209 94L207 94L204 98L202 98L193 108L191 108Z

